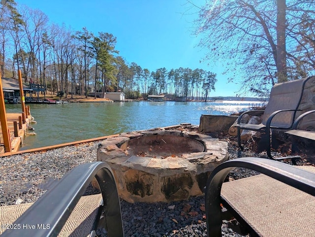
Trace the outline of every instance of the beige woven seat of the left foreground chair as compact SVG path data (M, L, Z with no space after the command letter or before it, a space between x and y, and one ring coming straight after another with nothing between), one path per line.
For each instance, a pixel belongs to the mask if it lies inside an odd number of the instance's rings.
M59 236L88 236L93 230L99 204L102 200L101 194L83 196L74 207L69 218L59 233ZM0 224L12 224L17 220L33 203L9 205L0 207ZM47 213L49 215L50 213ZM45 223L39 223L45 224ZM0 234L4 229L0 229Z

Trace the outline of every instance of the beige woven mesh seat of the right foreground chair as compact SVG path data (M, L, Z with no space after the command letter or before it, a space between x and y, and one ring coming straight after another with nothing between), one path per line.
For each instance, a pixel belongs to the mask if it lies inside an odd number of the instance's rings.
M315 173L315 167L299 166ZM266 237L315 236L315 197L266 175L222 184L221 197Z

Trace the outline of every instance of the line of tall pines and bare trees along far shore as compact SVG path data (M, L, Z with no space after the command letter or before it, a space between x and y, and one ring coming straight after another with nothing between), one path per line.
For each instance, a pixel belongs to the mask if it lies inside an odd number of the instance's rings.
M22 71L25 83L40 85L51 93L96 98L107 91L123 91L126 98L146 99L148 94L172 94L207 99L215 90L216 74L203 69L158 68L149 71L119 55L117 38L108 32L97 35L86 28L49 24L40 10L0 1L1 76L16 78ZM97 92L97 93L96 93Z

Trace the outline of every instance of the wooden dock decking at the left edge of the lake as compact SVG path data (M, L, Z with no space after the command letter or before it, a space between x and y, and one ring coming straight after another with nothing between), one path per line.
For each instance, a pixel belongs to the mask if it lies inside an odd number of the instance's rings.
M28 129L28 124L30 122L31 116L26 118L25 123L22 122L22 128L19 129L19 117L22 117L22 113L7 113L6 120L8 129L10 132L10 140L11 140L11 152L16 152L20 149L21 143L25 138L25 133ZM17 121L17 132L18 136L14 136L14 121ZM2 136L2 128L0 124L0 154L4 153L4 145L3 145L3 136Z

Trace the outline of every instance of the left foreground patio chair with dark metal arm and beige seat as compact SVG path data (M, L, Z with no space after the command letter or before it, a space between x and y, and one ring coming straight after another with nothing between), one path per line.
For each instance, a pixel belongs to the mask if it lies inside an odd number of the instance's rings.
M101 194L82 196L94 177ZM8 226L1 236L95 236L102 212L108 236L124 236L111 168L104 162L87 163L71 170L34 204L0 207L1 227Z

